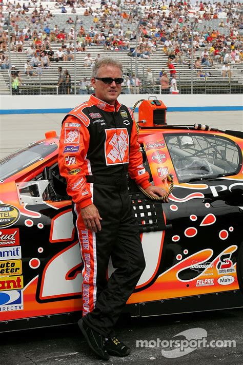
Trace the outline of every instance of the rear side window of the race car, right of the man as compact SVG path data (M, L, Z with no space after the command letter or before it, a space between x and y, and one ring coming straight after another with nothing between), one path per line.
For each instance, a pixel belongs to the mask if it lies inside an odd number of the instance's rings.
M165 136L165 141L179 182L235 174L240 153L237 145L220 136Z

